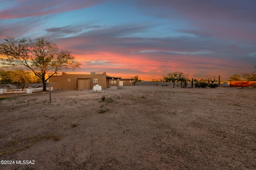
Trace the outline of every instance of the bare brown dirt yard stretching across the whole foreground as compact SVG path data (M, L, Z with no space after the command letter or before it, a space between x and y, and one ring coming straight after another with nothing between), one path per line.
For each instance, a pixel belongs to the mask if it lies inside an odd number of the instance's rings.
M1 94L0 169L256 169L256 88L104 91Z

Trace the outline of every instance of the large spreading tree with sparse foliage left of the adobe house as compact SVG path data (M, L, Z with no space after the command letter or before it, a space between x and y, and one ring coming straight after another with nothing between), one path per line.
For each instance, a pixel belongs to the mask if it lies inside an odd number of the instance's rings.
M60 50L55 43L44 37L34 40L7 37L4 40L0 44L0 63L4 66L26 66L42 80L44 91L44 82L58 70L80 68L81 64L71 52Z

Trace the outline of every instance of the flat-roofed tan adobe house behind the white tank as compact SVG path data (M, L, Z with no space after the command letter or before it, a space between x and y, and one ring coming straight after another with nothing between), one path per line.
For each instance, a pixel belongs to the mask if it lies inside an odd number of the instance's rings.
M49 82L54 82L51 86L54 89L62 90L90 90L96 84L100 85L102 89L109 87L109 82L116 81L116 87L119 89L119 82L121 77L111 77L106 74L97 74L91 72L91 74L67 74L62 72L61 76L52 76ZM114 85L114 84L113 84Z

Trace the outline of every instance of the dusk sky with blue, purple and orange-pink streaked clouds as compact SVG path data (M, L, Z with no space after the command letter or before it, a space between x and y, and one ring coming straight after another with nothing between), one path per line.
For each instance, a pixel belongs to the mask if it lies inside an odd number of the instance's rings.
M6 36L49 38L76 73L227 80L256 71L256 0L0 0Z

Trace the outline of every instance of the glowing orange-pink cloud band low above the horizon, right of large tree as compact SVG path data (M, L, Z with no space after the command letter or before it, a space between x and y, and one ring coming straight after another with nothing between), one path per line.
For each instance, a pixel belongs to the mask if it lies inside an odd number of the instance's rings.
M211 60L202 56L177 55L170 58L160 56L152 58L142 55L122 55L116 53L98 52L89 56L77 56L77 59L82 61L103 61L106 63L98 64L83 64L81 70L101 70L112 76L122 76L129 78L138 74L143 80L151 80L152 78L162 78L163 74L168 74L174 71L181 71L189 74L189 78L205 78L210 75L221 75L223 80L232 75L234 68L226 68L230 61L227 59ZM93 60L92 60L93 59ZM232 64L232 63L231 63ZM116 71L118 70L118 72ZM200 75L200 76L197 76Z

